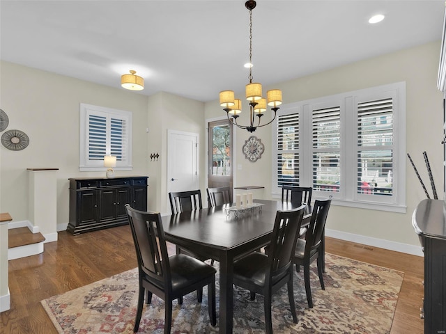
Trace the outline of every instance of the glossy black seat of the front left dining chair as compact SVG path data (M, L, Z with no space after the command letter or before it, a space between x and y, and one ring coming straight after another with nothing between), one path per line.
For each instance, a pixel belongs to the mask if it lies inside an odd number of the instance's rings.
M174 291L198 283L203 277L215 274L214 267L185 254L171 255L169 264Z

